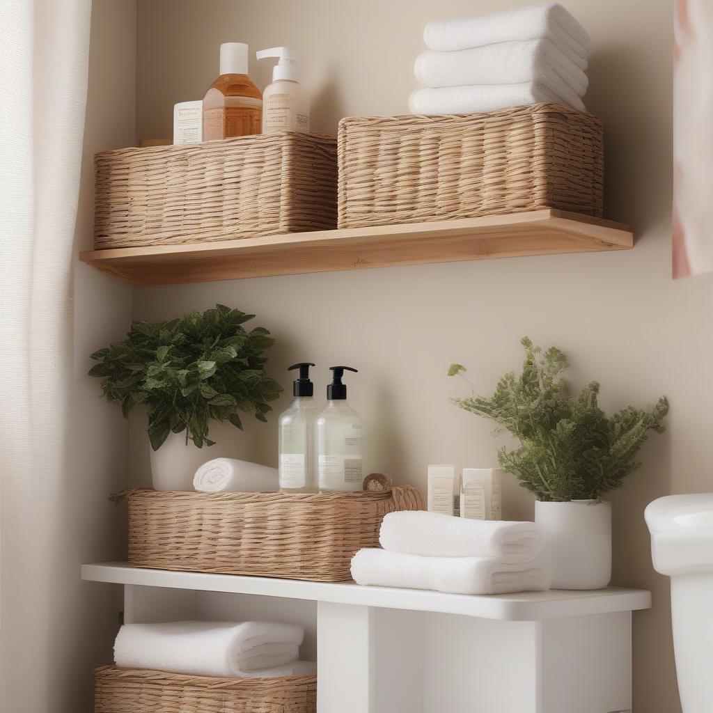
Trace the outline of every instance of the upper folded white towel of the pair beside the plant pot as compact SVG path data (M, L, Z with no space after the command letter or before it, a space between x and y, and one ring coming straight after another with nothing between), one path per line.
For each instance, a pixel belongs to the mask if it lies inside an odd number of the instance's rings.
M516 565L538 558L542 530L530 522L466 520L424 511L389 513L381 522L384 550L427 557L491 557Z

